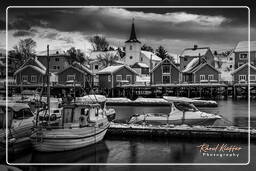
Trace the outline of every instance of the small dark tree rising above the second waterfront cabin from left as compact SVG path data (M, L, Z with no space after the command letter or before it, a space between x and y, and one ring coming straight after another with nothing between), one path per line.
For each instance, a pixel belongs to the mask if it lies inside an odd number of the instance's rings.
M67 50L67 53L69 54L69 57L67 58L69 64L72 64L74 61L77 61L80 63L85 62L84 53L81 52L80 49L71 47L69 50Z

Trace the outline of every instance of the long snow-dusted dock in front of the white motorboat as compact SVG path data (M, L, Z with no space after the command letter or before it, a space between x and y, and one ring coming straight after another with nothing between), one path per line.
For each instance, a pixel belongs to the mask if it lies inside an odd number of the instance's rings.
M175 138L207 138L225 140L256 140L256 129L238 128L233 126L187 126L187 125L135 125L111 123L106 136L115 137L175 137Z

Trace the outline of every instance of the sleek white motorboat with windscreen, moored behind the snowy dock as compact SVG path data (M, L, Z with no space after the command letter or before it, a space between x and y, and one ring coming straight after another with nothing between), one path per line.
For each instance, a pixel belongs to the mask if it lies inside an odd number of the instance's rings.
M193 105L193 100L183 97L164 96L170 104L169 113L145 113L132 115L128 123L131 124L152 124L152 125L213 125L216 120L222 117L217 114L210 114L199 111Z

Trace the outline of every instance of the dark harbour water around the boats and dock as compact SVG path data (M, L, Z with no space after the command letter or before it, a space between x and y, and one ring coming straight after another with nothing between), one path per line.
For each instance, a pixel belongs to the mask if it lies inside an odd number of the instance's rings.
M251 102L251 126L256 127L256 102ZM112 106L117 122L126 122L132 114L147 112L168 113L168 106ZM218 107L201 107L201 111L218 113L224 119L216 126L248 126L248 102L223 100ZM204 148L207 147L207 148ZM215 148L215 151L214 151ZM248 142L207 139L125 138L108 137L98 144L66 152L42 153L33 149L9 156L11 163L247 163ZM251 153L256 143L251 142ZM36 166L22 166L33 170ZM47 167L45 167L47 168ZM56 170L57 168L53 169ZM50 168L46 170L51 170ZM236 170L236 169L234 169Z

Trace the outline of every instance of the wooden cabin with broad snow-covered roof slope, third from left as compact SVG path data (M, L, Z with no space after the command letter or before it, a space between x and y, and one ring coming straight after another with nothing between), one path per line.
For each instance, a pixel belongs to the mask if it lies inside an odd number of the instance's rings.
M98 72L99 87L111 89L122 83L134 84L138 73L127 65L108 66Z

